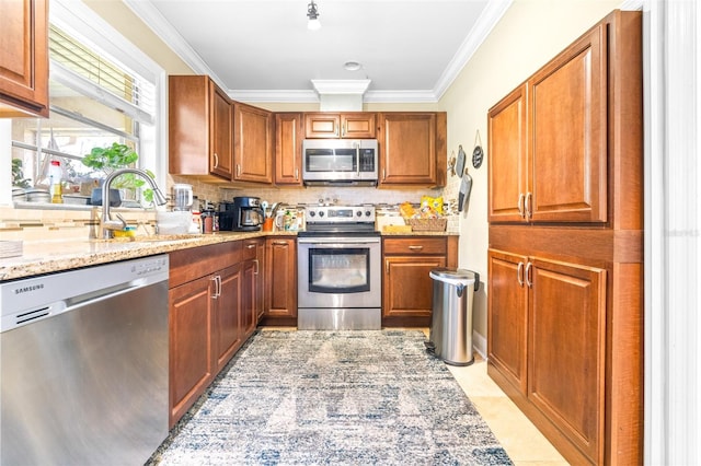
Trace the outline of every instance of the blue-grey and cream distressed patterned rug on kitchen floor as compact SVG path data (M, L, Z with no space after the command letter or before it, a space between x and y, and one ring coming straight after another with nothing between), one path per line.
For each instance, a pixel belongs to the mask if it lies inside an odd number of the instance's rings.
M418 330L260 330L152 465L510 465Z

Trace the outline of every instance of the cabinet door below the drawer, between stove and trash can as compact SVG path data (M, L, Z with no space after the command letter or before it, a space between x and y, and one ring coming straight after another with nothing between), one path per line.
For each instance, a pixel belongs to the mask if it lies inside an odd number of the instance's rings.
M432 269L445 267L444 256L386 256L382 318L427 317L433 310Z

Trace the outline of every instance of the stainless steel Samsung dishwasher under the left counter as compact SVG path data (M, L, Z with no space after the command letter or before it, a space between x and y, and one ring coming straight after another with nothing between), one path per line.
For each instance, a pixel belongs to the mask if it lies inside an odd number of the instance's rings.
M143 464L168 435L168 256L0 283L0 464Z

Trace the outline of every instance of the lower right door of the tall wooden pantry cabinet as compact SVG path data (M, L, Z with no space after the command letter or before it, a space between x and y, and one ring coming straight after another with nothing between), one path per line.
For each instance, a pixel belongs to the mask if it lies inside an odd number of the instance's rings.
M533 258L527 280L528 397L602 464L606 270Z

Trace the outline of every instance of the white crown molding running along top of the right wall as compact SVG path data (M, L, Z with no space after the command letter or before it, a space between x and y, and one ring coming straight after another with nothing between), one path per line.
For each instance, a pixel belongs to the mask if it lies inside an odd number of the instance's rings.
M450 84L458 78L460 71L470 61L474 53L480 48L484 39L490 35L496 23L499 22L506 10L512 5L514 0L490 0L486 8L480 14L474 24L474 28L460 45L458 51L444 70L434 88L434 94L439 100L443 94L450 88Z

